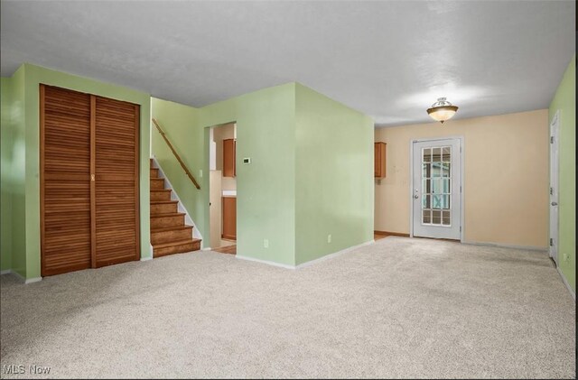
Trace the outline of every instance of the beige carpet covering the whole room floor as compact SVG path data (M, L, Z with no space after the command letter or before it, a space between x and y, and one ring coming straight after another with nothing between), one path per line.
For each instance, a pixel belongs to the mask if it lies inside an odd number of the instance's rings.
M576 375L538 252L387 237L298 270L198 252L1 285L2 365L51 377Z

